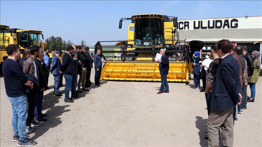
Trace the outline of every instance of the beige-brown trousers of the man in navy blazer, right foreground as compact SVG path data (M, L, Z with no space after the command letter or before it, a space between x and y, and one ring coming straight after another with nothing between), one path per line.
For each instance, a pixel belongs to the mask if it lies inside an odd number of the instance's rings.
M208 146L219 147L218 129L221 128L221 134L224 146L233 146L234 129L233 129L233 110L234 108L224 111L211 110L207 119L207 137Z

